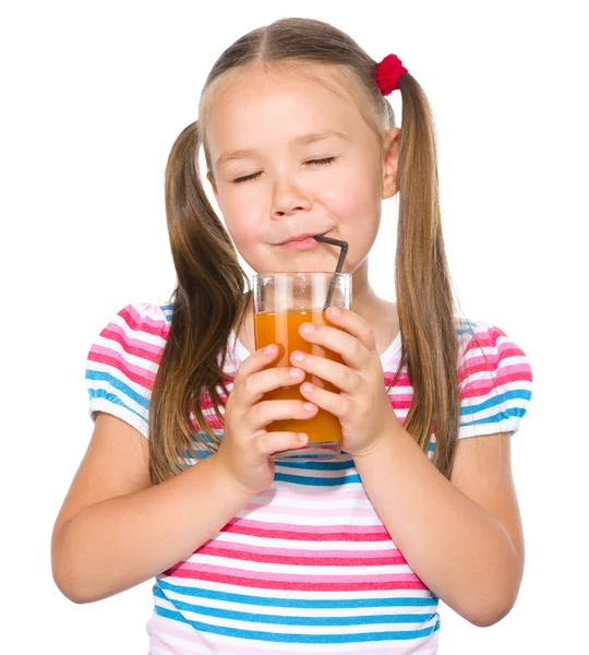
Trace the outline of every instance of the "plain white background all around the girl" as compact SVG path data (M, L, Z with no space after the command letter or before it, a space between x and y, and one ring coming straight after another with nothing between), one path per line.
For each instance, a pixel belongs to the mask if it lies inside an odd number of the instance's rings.
M85 358L124 305L171 294L164 168L197 118L211 67L244 33L291 15L333 23L376 60L398 55L422 84L462 310L500 326L532 367L531 407L513 438L527 544L519 598L486 629L442 604L440 653L580 653L589 582L582 3L260 4L2 9L4 643L17 640L15 653L147 652L151 582L75 605L51 577L52 524L92 433ZM388 99L400 120L399 92ZM385 201L370 259L373 287L389 300L396 210Z

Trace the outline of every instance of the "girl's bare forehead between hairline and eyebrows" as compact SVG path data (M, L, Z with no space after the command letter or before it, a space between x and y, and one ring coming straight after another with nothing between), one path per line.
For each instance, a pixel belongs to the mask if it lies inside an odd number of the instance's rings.
M325 73L252 70L219 84L206 121L213 162L243 148L304 145L302 134L338 131L353 140L363 122L342 85Z

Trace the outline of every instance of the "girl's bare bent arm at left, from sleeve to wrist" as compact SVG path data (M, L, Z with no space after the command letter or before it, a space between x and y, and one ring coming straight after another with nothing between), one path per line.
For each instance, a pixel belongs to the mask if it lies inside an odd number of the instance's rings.
M187 558L250 498L216 455L152 486L147 440L99 413L53 527L56 584L74 603L118 594Z

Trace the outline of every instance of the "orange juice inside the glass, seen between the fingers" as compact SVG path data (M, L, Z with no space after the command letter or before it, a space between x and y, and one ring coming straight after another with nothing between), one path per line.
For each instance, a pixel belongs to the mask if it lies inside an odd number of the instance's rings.
M294 350L302 350L310 355L325 357L333 361L344 364L341 357L334 350L323 348L320 345L305 341L299 333L302 323L315 323L316 325L329 325L336 330L342 330L334 325L325 315L324 311L312 311L305 309L293 309L286 313L257 313L254 314L255 348L260 349L269 344L278 344L278 355L266 368L291 367L290 355ZM303 400L306 398L300 392L300 385L311 382L315 386L339 393L339 389L310 373L305 373L304 380L296 384L279 386L264 394L263 401ZM312 418L299 419L287 418L274 420L266 428L268 432L304 432L309 434L309 443L341 443L341 426L337 416L321 407Z

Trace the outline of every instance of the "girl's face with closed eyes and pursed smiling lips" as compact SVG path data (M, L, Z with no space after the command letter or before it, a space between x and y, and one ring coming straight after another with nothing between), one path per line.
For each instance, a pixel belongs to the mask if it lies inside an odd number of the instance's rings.
M376 238L383 198L397 190L396 159L388 167L381 160L376 138L351 99L302 78L254 69L223 86L207 123L207 178L254 271L335 271L335 246L280 246L327 233L348 241L342 271L351 273Z

